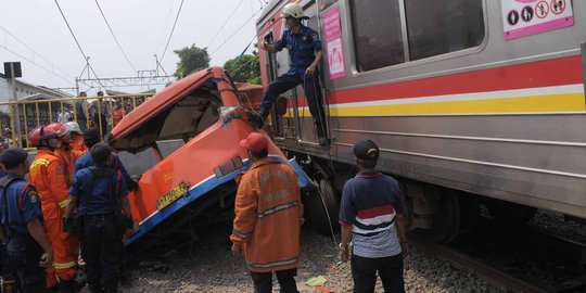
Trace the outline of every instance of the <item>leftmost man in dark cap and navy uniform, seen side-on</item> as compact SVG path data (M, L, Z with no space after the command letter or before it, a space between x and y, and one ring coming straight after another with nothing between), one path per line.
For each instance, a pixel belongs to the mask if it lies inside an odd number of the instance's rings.
M8 175L0 179L0 238L5 243L11 275L16 277L21 293L46 291L44 269L53 263L53 249L42 227L42 213L35 187L24 176L30 166L23 149L5 150L0 161ZM44 253L44 258L41 256ZM4 276L7 273L4 272ZM10 291L3 280L2 292Z

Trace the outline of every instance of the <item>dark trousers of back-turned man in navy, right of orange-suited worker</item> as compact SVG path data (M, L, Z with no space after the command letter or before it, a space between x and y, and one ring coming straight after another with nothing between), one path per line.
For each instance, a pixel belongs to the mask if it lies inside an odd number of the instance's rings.
M103 292L117 292L120 241L112 216L104 219L84 217L81 255L86 260L86 275L91 288L101 288Z

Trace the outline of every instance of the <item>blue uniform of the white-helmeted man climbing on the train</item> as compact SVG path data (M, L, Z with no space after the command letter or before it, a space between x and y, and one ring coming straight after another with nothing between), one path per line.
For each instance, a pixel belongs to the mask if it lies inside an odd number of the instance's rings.
M260 105L260 115L266 120L272 103L279 94L298 86L303 86L309 113L314 118L316 133L319 138L327 137L326 113L321 104L321 86L319 84L319 72L316 68L313 75L305 74L305 71L316 59L315 52L321 51L321 42L317 31L302 25L300 33L292 30L283 31L280 40L275 42L275 49L281 51L284 48L289 51L290 68L289 71L272 80L263 98Z

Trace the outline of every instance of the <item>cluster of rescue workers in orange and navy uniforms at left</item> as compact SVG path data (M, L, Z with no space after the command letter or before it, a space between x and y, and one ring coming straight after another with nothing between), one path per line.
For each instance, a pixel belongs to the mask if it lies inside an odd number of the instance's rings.
M95 127L52 123L28 139L33 162L0 150L2 292L78 292L81 266L91 292L117 292L136 182Z

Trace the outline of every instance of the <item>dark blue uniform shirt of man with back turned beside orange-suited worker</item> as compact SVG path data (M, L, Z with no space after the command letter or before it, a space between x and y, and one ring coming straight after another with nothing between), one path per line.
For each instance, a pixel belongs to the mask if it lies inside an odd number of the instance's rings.
M85 156L85 155L84 155ZM81 157L84 157L81 156ZM91 158L91 156L90 156ZM81 158L80 158L81 160ZM92 161L93 163L93 161ZM77 164L77 163L76 163ZM97 166L97 168L110 168L107 166ZM89 168L82 168L75 173L69 194L78 196L79 215L94 216L113 212L112 196L118 200L128 195L126 182L122 178L120 171L115 171L112 177L94 177ZM115 193L115 194L113 194ZM119 205L116 208L120 208Z

